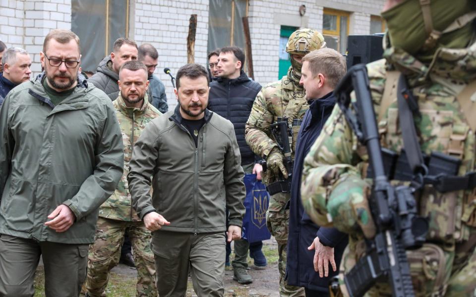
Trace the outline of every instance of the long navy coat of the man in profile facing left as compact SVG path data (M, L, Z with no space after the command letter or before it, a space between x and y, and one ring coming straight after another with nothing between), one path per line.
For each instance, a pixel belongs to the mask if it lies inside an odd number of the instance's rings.
M304 158L334 108L336 99L332 93L309 104L299 129L296 145L293 180L289 213L288 261L286 267L289 285L305 287L310 290L329 292L329 281L339 272L342 253L347 246L348 236L335 228L319 228L304 212L300 196L301 173ZM319 277L314 271L314 250L308 250L315 237L329 247L335 247L334 258L337 271L333 272L329 264L329 277Z

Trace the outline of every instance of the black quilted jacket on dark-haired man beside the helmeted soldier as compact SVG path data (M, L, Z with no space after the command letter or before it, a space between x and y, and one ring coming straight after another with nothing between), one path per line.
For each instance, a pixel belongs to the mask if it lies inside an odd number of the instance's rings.
M241 70L238 78L217 78L210 83L208 109L230 120L235 127L241 164L255 162L255 154L244 139L244 125L261 85L250 80Z

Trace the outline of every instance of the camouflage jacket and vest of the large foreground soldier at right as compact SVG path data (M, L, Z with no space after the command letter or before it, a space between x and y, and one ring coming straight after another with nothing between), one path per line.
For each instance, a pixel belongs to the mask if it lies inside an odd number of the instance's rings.
M388 63L382 59L367 65L375 114L380 112L388 67L393 65L406 75L409 88L417 99L421 117L415 117L415 125L422 152L451 152L452 156L462 160L459 175L475 170L475 132L470 128L455 97L461 91L461 86L476 79L475 53L476 44L467 49L439 49L427 66L405 52L387 49L384 56ZM378 121L381 146L400 153L403 139L398 123L396 96L391 102ZM353 130L336 105L304 160L301 198L304 209L318 225L334 226L350 234L351 253L344 255L342 266L345 271L352 268L365 251L365 247L361 246L361 231L367 235L374 232L366 200L371 186L371 180L364 179L367 161L366 148L357 142ZM427 259L429 253L425 253L425 250L430 248L439 250L440 254L444 251L447 259L453 259L455 245L458 250L459 245L468 243L470 236L476 233L476 200L471 191L439 193L431 185L426 185L421 195L416 196L416 202L419 214L429 219L427 241L432 244L409 251L407 255L412 275L419 273L424 276L426 271L417 272L416 269L418 265L421 267L421 261L419 264L415 261L414 266L412 259ZM461 262L469 256L471 252L461 256ZM436 268L432 267L430 274L447 277L451 275L451 269L457 271L452 266L452 260L440 258L434 263L432 265ZM428 292L440 289L444 292L443 283L448 280L439 278L439 283L433 282L435 278L433 281L423 280L418 288L415 279L416 290L423 287Z

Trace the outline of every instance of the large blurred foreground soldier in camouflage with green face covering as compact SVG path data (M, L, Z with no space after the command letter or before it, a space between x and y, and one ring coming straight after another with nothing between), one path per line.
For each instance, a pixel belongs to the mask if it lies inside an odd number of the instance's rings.
M382 17L388 24L385 59L367 65L381 146L397 153L403 148L395 91L403 74L420 113L415 126L421 151L460 159L458 176L474 172L475 1L388 0ZM365 147L336 106L304 161L301 197L313 221L350 235L340 267L344 295L343 274L365 253L363 238L375 232L368 219L367 166ZM474 187L469 182L441 193L425 184L415 195L419 215L429 222L423 246L407 251L416 296L476 296ZM383 283L367 294L391 296Z

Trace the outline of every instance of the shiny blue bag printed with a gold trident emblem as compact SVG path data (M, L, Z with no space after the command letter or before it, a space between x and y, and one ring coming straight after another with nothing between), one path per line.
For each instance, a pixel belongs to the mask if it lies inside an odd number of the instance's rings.
M266 226L266 210L269 205L269 194L261 181L256 180L256 174L245 174L244 186L246 198L244 207L242 238L249 243L268 240L271 234Z

